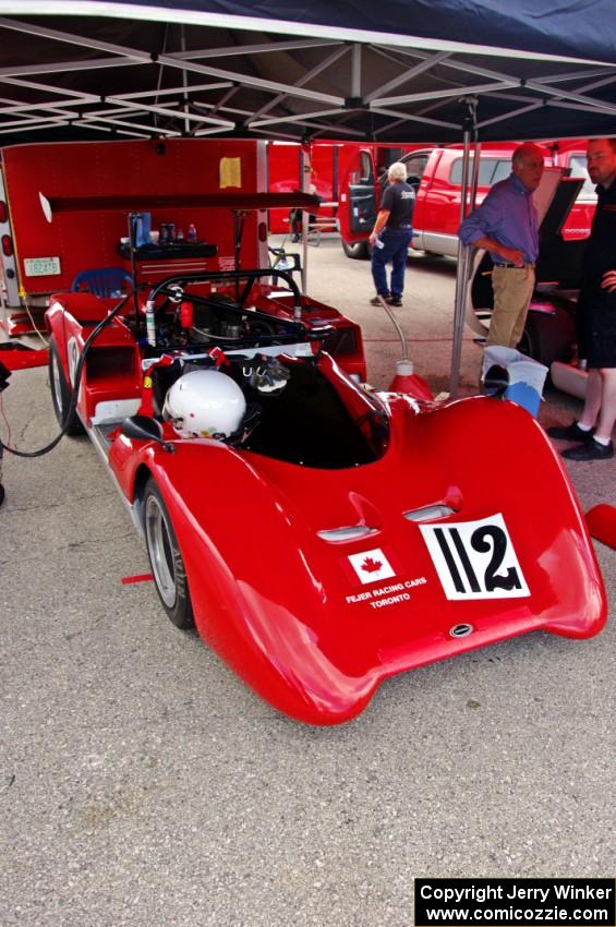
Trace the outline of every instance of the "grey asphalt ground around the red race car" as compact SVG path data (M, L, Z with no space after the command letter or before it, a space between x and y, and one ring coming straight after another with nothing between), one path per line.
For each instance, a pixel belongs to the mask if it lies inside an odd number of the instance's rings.
M399 352L369 266L336 241L310 258L311 292L361 322L386 386ZM399 311L435 392L454 275L414 258ZM467 332L463 393L479 364ZM53 436L46 380L13 375L4 440ZM579 405L548 394L541 421ZM584 509L615 502L615 468L569 466ZM122 585L147 557L87 440L5 455L3 481L2 927L409 927L415 877L614 872L614 622L416 670L355 721L307 727L173 628L152 583ZM614 603L616 551L595 547Z

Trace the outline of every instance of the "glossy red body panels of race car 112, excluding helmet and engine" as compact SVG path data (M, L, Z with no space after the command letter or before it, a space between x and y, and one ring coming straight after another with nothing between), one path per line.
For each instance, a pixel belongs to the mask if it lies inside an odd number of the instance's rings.
M53 298L47 321L67 376L70 345L105 311L88 296ZM78 410L92 428L100 401L138 400L142 348L114 321L90 350ZM601 629L583 516L527 411L486 397L371 396L326 353L288 366L286 392L267 400L270 449L258 430L231 447L178 438L167 422L174 453L126 437L120 422L108 435L135 513L146 479L158 484L200 635L262 698L306 723L339 723L396 673L531 630ZM355 459L353 443L370 453Z

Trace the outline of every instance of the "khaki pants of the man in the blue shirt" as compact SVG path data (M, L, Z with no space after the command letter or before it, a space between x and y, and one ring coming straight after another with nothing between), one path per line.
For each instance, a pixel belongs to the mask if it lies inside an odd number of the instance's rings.
M516 348L524 330L529 303L534 289L534 268L528 265L494 267L492 289L494 312L485 344Z

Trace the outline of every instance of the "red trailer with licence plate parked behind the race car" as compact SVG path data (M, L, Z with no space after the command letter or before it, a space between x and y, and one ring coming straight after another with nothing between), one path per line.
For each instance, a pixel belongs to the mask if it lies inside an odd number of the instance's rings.
M267 190L265 149L265 142L235 139L3 148L4 327L10 334L29 329L25 308L43 308L49 293L70 290L85 269L134 272L128 248L129 197L134 204L130 208L147 218L140 226L147 239L142 241L140 278L233 269L238 263L266 267L267 212L238 206L238 196ZM70 201L71 208L59 210L50 222L40 194L60 204ZM101 209L105 197L109 207ZM113 202L122 205L113 209ZM205 245L216 245L216 254Z

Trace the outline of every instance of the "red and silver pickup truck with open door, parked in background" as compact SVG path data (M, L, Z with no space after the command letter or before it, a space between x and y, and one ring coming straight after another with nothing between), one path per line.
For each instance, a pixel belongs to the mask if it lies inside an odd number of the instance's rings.
M482 146L478 204L493 183L509 176L515 148L515 143ZM566 241L587 238L596 195L585 169L583 143L547 143L544 149L546 165L567 168L572 177L584 179L563 228L563 238ZM457 255L462 154L461 145L451 145L413 151L400 158L407 165L409 182L416 190L412 249ZM379 208L385 179L385 174L377 173L370 147L359 148L342 180L338 209L340 238L348 257L369 256L367 237Z

